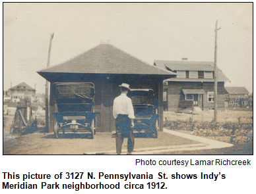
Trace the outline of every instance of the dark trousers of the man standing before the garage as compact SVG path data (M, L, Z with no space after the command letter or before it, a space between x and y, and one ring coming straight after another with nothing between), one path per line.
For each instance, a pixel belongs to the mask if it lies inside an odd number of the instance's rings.
M133 151L134 147L134 134L133 129L131 128L131 119L127 114L118 114L115 120L115 129L116 129L116 152L117 154L121 153L123 139L128 137L128 152Z

